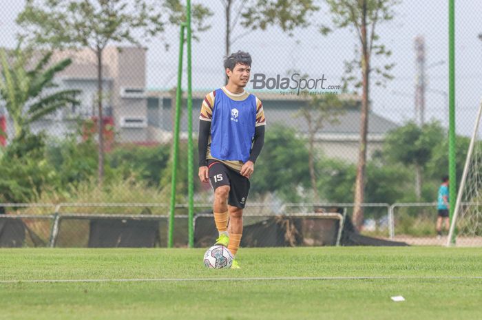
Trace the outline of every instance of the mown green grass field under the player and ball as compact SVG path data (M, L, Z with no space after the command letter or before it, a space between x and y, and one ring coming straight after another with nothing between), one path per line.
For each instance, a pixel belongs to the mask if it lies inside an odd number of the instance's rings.
M482 319L482 248L242 248L241 270L203 253L1 249L0 319Z

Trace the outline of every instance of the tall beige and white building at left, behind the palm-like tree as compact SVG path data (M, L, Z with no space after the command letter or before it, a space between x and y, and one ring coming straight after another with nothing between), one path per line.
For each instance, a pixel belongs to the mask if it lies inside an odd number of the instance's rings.
M145 142L147 136L147 99L145 97L145 48L107 47L103 52L103 117L112 124L116 140ZM57 74L61 89L80 89L80 105L59 110L32 124L32 131L50 136L65 136L74 131L78 119L98 116L98 76L96 55L90 49L55 52L52 63L72 58L72 64ZM7 121L8 122L8 121ZM12 125L6 131L12 136Z

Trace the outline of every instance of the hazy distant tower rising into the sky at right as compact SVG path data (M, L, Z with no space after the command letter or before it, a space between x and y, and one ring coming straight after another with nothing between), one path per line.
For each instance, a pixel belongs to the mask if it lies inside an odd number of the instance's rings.
M417 76L415 77L415 121L420 126L425 122L425 39L423 36L415 38L415 56L417 62Z

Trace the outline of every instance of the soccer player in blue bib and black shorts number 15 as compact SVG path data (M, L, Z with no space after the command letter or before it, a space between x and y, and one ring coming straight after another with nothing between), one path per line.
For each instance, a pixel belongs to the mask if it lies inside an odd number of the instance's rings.
M264 144L261 101L244 90L251 72L251 56L238 51L224 60L226 86L206 95L199 120L199 178L214 191L216 244L233 256L242 237L242 210L249 194L249 178ZM228 226L229 222L229 226ZM236 259L231 268L240 268Z

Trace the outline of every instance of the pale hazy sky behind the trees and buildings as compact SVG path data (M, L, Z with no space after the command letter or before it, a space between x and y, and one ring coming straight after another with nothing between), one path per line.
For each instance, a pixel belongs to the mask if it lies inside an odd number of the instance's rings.
M223 85L224 8L221 0L203 0L214 13L206 20L211 25L193 42L193 88L213 89ZM352 30L336 30L328 36L318 32L319 25L331 24L331 15L322 1L321 10L310 18L311 26L295 30L293 36L280 28L251 32L231 46L231 51L244 50L253 56L252 74L286 75L298 70L313 78L327 78L328 83L341 84L344 61L355 56L357 38ZM1 0L0 46L14 47L19 28L14 20L25 1ZM423 36L426 42L426 119L437 119L448 126L448 1L403 0L393 8L395 19L377 25L380 43L392 51L392 56L380 60L373 57L373 65L395 63L386 87L372 84L372 110L397 123L414 118L416 63L414 41ZM456 1L455 66L457 132L469 135L482 99L482 1ZM241 34L238 27L233 36ZM178 28L169 27L163 36L145 43L147 50L147 87L169 88L176 85L178 65ZM165 44L169 50L165 50ZM439 61L444 61L439 63ZM431 65L431 67L430 67ZM186 77L184 77L184 80ZM248 87L249 89L249 87Z

